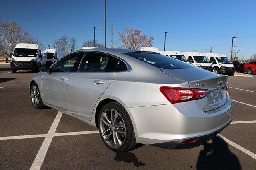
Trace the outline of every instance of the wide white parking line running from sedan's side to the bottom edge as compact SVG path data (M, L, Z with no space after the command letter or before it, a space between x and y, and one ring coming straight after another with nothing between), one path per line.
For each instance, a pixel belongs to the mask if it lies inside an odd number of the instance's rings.
M40 147L36 155L36 158L30 167L30 170L39 170L40 167L42 166L42 163L44 162L44 157L46 156L47 150L50 146L50 143L52 142L52 137L60 122L61 116L62 116L62 113L59 111L52 123L52 126L50 127L50 130L46 134L44 142L42 143L42 146Z

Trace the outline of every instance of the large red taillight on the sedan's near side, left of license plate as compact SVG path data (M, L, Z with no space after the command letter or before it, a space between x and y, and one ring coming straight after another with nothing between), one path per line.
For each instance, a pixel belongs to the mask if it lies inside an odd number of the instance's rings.
M202 99L207 96L209 90L198 88L160 87L162 94L172 103L187 102Z

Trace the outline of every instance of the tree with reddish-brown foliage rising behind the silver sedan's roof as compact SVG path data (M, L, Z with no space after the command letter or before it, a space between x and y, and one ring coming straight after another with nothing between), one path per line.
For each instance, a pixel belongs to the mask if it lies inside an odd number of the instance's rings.
M123 32L118 31L118 35L122 42L122 48L133 49L136 47L153 47L154 38L150 35L142 34L140 29L126 27Z

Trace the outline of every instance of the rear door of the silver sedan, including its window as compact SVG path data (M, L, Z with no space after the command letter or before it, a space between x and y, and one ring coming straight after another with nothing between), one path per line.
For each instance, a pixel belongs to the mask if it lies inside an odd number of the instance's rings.
M90 120L98 98L114 78L113 57L86 52L78 72L68 82L69 113Z

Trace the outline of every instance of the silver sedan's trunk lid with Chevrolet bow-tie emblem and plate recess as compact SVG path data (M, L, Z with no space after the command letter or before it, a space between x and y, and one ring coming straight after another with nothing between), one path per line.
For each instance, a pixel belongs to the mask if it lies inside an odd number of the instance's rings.
M201 68L161 69L168 76L187 81L190 88L208 89L206 98L194 100L202 111L210 111L227 102L226 82L228 76L216 74Z

